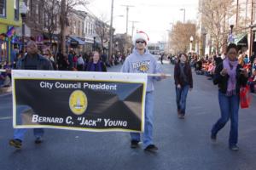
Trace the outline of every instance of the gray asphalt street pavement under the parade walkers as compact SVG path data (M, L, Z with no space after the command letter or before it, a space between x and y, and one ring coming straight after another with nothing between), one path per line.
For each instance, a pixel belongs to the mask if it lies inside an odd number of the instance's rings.
M162 65L173 75L173 65ZM108 68L119 71L120 65ZM32 130L21 150L12 138L12 99L0 96L0 170L254 170L256 169L256 98L250 109L240 110L239 151L228 148L230 122L210 139L217 121L218 88L207 77L194 75L184 120L177 119L173 77L155 84L154 143L156 154L130 148L129 133L89 133L46 129L43 144L34 144Z

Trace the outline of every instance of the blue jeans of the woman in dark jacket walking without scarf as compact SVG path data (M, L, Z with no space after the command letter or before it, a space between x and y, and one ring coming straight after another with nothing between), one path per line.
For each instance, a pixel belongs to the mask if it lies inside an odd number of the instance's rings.
M177 110L180 111L181 114L185 115L186 112L186 100L189 92L189 85L185 85L181 88L176 87L176 103Z

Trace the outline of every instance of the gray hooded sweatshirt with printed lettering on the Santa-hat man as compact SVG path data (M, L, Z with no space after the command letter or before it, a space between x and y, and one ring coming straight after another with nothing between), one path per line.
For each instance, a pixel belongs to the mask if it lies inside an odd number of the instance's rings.
M145 49L145 53L141 55L134 48L132 54L125 59L121 72L155 74L162 71L160 65L157 64L157 60L149 53L148 49ZM148 77L147 92L154 91L155 80L160 81L160 77Z

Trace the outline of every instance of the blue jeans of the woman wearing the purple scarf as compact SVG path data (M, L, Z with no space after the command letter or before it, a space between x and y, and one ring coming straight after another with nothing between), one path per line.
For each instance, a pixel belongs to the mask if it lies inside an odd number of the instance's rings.
M217 135L218 131L230 120L230 146L237 144L239 102L239 94L228 97L225 94L218 92L221 117L218 119L218 122L213 125L212 134Z

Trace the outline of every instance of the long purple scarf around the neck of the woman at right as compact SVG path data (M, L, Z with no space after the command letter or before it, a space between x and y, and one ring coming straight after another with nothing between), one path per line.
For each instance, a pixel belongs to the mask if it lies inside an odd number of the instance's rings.
M227 96L232 96L236 94L236 67L238 61L230 61L229 58L224 59L223 66L227 69L228 75L230 76L228 81ZM232 67L232 68L231 68Z

